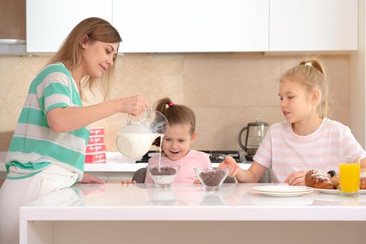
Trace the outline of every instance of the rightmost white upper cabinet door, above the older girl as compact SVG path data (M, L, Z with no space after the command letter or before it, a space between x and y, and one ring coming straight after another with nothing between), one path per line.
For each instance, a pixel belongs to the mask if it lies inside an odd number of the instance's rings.
M358 0L270 0L270 51L356 50Z

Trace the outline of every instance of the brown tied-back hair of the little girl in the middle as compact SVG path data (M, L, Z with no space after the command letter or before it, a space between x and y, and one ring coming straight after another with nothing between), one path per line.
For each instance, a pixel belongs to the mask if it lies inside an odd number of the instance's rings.
M162 98L155 102L153 109L164 114L169 122L169 125L190 125L190 135L193 135L196 130L196 116L189 107L185 105L176 105L170 98ZM155 146L160 146L160 137L153 143Z

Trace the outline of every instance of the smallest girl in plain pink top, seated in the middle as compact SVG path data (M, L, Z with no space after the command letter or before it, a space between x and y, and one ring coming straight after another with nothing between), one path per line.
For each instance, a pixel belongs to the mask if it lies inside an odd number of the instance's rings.
M162 139L161 165L180 166L173 183L199 183L194 168L211 167L211 161L206 153L190 150L197 137L195 113L189 107L175 105L169 98L158 100L155 110L169 122L169 130ZM160 146L160 137L154 144ZM159 156L150 158L148 165L159 165ZM145 183L153 183L148 174Z

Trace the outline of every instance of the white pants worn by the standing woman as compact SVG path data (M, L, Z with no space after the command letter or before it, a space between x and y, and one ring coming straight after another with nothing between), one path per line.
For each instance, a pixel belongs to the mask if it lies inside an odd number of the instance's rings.
M6 179L0 188L0 244L19 243L20 207L77 181L78 174L52 164L29 178Z

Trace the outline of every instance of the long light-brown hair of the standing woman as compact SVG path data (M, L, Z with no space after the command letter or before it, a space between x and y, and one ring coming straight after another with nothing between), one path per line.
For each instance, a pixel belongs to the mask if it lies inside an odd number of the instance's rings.
M70 70L80 66L82 63L82 40L91 42L99 40L103 43L120 43L122 41L119 32L112 24L109 24L106 20L102 20L98 17L90 17L82 20L82 22L74 27L68 34L66 40L64 40L59 52L54 55L48 64L62 62ZM114 57L113 62L115 66L116 56ZM104 99L106 100L109 95L110 81L111 79L114 79L114 66L109 67L100 79L90 77L89 75L86 76L83 79L81 86L89 86L90 91L93 92L93 89L98 84ZM99 82L97 82L97 80L99 80ZM80 97L82 100L86 100L82 87L79 87Z

